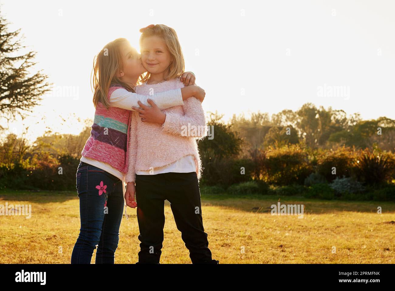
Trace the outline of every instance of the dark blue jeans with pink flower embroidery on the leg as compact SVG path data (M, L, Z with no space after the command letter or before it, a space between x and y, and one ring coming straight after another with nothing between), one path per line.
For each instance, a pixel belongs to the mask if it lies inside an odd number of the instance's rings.
M71 264L113 264L124 209L122 181L104 170L80 162L76 174L81 229Z

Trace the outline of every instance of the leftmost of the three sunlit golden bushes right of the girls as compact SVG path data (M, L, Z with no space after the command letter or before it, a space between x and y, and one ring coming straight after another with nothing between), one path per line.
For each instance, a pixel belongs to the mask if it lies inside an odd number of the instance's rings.
M312 172L308 155L300 145L269 146L264 161L265 180L276 185L303 184Z

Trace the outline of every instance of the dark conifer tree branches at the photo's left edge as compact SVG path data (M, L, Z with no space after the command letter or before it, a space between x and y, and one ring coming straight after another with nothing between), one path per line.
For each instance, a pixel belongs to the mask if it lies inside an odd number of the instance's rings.
M21 30L9 32L8 25L0 15L0 111L9 120L16 115L26 117L50 89L47 75L41 71L31 74L36 52L21 53L26 48L19 37Z

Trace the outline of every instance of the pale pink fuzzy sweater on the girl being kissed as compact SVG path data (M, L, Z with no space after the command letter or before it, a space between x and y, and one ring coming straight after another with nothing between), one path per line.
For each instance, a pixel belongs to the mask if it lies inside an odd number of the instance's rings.
M158 84L143 84L136 87L137 94L156 94L179 89L184 84L179 78ZM147 171L166 166L186 155L193 155L196 174L201 177L201 161L197 141L207 136L207 125L201 102L188 98L183 106L162 110L166 113L163 125L142 122L138 112L132 111L129 137L129 163L126 182L135 181L135 171ZM201 130L188 130L200 128ZM202 129L204 128L204 130Z

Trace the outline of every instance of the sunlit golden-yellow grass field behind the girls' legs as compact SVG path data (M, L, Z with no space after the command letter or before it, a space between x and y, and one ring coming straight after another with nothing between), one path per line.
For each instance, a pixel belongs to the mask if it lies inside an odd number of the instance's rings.
M298 219L270 214L277 196L201 198L209 248L220 264L395 263L394 203L281 197L281 204L305 205ZM0 216L1 263L70 263L79 234L75 192L0 192L0 204L6 202L31 204L32 217ZM128 208L128 215L122 219L115 263L137 262L136 210ZM161 263L191 263L167 201L165 215Z

